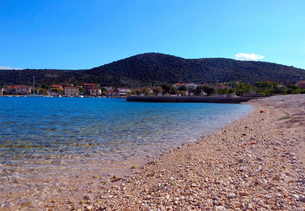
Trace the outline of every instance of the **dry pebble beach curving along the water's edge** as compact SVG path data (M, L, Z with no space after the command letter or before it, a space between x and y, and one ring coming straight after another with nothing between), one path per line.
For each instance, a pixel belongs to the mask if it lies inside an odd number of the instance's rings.
M304 210L305 95L251 100L253 111L163 153L74 210Z

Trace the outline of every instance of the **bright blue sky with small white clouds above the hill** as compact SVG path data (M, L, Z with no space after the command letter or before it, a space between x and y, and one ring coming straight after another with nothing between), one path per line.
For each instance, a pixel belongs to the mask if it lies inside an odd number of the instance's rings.
M5 0L0 69L89 69L146 52L305 69L304 8L304 0Z

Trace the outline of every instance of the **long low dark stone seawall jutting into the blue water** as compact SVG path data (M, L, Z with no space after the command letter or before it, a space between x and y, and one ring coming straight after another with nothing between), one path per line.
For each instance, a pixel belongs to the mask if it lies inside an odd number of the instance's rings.
M141 102L213 102L213 103L240 103L257 98L245 97L187 97L187 96L127 96L127 101Z

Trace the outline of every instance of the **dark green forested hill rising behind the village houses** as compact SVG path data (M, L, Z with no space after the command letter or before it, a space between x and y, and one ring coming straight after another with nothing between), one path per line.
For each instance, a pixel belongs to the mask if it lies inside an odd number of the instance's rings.
M90 70L0 70L0 82L76 85L95 83L102 86L149 85L150 83L215 83L275 81L290 84L304 77L305 70L268 62L239 61L224 58L183 59L161 53L144 53Z

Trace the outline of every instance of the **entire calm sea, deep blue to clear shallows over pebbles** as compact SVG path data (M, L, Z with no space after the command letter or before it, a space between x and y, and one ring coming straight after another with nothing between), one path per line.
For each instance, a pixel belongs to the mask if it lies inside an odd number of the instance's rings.
M251 111L243 104L118 98L0 97L0 105L3 210L71 210L89 191L111 187L113 174L123 182L133 164Z

